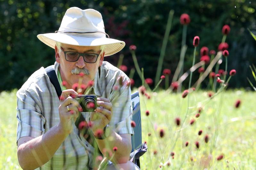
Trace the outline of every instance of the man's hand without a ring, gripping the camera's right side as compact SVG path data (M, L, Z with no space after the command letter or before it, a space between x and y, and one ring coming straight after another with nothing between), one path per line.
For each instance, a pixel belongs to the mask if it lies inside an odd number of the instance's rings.
M92 131L95 133L97 129L103 129L111 120L112 103L105 98L97 98L96 111L91 113L90 121L93 123Z

